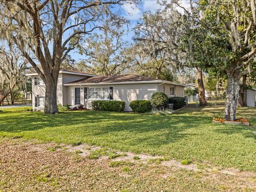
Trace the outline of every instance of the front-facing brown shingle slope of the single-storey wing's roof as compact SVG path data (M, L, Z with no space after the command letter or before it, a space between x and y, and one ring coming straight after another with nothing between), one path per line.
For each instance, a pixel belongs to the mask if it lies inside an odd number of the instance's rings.
M121 83L121 82L145 82L145 81L161 81L161 79L155 79L150 77L145 77L141 75L116 75L116 76L96 76L96 77L86 77L79 79L74 82L69 82L67 84L81 84L81 83Z

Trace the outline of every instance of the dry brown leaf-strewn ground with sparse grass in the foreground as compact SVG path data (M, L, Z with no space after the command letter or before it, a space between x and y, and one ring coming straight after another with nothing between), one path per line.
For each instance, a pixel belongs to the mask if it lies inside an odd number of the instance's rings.
M130 152L124 155L99 149L102 148L2 139L0 191L256 190L256 174L253 172L221 170L194 162L181 165L161 156ZM103 155L88 158L96 150ZM109 158L113 153L120 156ZM139 159L133 159L134 156Z

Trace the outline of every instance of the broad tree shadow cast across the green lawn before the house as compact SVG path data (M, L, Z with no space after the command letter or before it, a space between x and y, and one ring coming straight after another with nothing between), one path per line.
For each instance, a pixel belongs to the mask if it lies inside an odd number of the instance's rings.
M182 115L151 116L108 111L69 111L58 115L19 112L0 116L0 133L15 134L50 127L52 131L43 134L50 135L56 131L56 134L59 134L56 137L61 138L62 134L74 131L73 135L64 137L80 140L84 137L107 137L110 134L111 138L116 140L130 139L131 144L149 141L149 145L164 145L189 137L182 131L196 127L198 121L203 124L209 123L209 119L204 117ZM138 134L141 138L137 138Z

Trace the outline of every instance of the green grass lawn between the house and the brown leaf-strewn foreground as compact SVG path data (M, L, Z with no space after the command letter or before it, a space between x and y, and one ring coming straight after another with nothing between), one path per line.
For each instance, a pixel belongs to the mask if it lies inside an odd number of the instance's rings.
M150 116L108 111L68 111L58 115L2 109L0 136L68 144L85 142L122 151L164 155L181 161L209 162L256 171L256 108L238 110L253 126L213 124L223 108L187 108Z

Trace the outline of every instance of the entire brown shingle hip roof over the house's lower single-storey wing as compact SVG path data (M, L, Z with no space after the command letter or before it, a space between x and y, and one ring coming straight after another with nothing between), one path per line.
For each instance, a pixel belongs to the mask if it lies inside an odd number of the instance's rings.
M162 79L156 79L151 77L145 77L141 75L116 75L116 76L95 76L85 77L77 81L66 83L66 86L70 85L91 85L91 84L131 84L131 83L166 83L173 85L186 86L180 83L174 83L164 81Z

